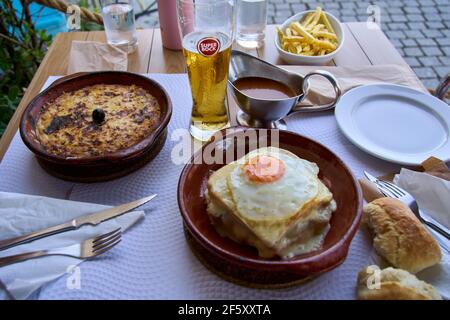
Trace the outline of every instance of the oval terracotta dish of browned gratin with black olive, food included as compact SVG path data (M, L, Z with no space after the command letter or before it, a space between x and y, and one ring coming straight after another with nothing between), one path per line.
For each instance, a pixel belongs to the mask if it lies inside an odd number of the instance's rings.
M171 114L170 99L154 80L129 72L82 73L36 96L20 133L50 174L95 182L123 176L156 156Z

